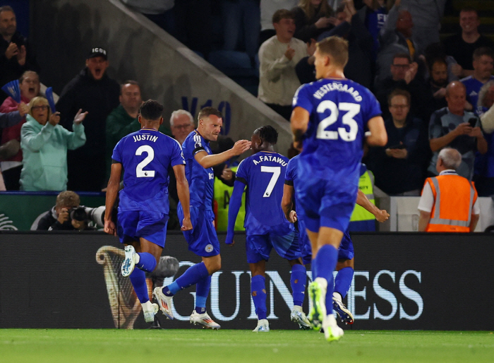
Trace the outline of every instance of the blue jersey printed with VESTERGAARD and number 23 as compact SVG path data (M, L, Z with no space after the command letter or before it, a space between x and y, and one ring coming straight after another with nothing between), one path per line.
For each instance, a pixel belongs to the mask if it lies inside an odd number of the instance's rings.
M293 107L310 114L300 174L330 180L359 174L367 122L381 114L370 90L346 78L323 78L301 85Z

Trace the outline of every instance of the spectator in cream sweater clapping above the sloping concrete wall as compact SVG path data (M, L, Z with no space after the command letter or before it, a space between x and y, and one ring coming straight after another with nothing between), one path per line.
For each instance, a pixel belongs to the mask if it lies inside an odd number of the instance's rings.
M289 120L291 100L301 83L295 73L296 64L307 54L307 47L295 39L294 15L280 9L272 16L276 35L259 49L259 90L261 101Z

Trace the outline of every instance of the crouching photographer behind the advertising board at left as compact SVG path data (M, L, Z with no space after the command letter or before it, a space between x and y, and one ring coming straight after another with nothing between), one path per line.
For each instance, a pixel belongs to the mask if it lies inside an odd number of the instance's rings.
M71 221L69 220L71 210L74 210L80 205L78 194L73 191L62 191L56 196L55 206L48 210L38 222L36 230L73 230Z

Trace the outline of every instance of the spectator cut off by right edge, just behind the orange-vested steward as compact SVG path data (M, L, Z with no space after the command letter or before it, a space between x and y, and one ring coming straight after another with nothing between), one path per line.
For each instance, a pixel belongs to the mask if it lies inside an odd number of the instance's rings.
M475 155L474 182L478 196L494 195L494 81L488 81L478 92L478 113L487 141L487 153Z

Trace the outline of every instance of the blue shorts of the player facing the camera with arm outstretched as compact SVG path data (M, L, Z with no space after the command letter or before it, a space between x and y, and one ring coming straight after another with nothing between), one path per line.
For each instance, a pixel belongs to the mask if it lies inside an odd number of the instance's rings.
M203 257L219 255L219 241L216 234L215 213L212 210L199 209L191 206L192 230L183 231L188 243L189 251ZM183 220L183 209L181 203L176 208L180 223Z

